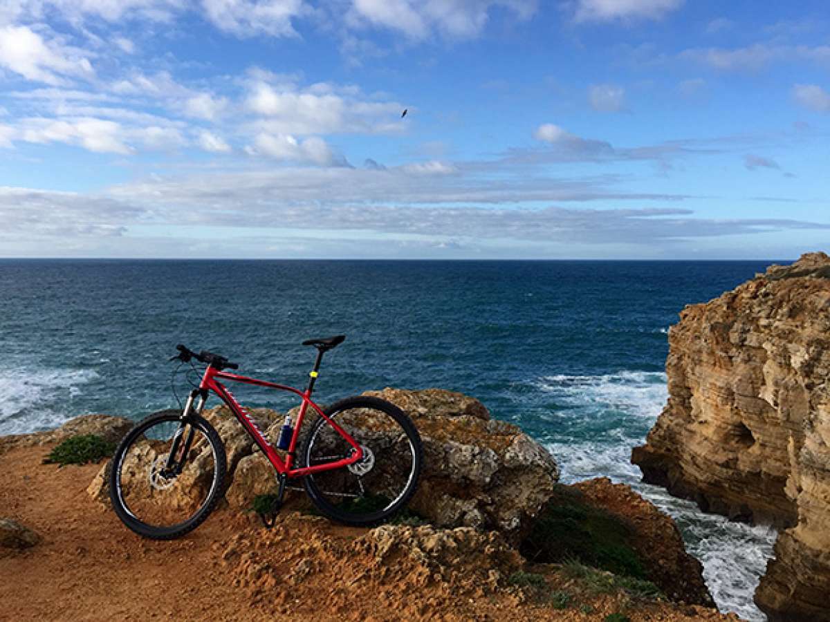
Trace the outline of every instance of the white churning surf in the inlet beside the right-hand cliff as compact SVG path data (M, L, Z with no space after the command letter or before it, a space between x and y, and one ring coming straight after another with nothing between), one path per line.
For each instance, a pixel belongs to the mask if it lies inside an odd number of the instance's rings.
M535 386L556 405L562 430L545 445L559 462L562 480L604 476L631 485L675 519L687 551L703 564L718 608L752 622L766 620L752 597L772 556L775 530L702 513L663 488L642 484L640 469L631 464L631 448L642 445L666 403L666 374L557 375L542 377Z

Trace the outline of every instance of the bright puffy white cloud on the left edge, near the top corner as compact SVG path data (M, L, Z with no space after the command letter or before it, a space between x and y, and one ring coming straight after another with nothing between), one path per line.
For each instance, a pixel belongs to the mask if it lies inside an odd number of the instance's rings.
M90 78L92 65L81 51L45 41L26 26L0 27L0 67L27 80L60 85L66 76Z

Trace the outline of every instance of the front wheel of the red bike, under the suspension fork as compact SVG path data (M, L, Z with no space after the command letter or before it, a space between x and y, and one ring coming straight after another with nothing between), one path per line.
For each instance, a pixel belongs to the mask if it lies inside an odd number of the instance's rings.
M110 499L134 532L171 540L216 507L225 471L225 447L207 420L163 411L136 425L115 450Z

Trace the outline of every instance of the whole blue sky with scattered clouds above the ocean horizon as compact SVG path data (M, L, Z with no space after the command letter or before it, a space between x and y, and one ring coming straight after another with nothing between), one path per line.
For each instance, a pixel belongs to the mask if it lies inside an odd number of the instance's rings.
M830 246L826 2L0 0L0 81L0 256Z

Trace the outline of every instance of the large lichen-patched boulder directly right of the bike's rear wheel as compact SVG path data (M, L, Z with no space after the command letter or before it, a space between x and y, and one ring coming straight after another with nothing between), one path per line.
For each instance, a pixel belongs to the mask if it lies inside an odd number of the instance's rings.
M491 420L480 401L442 389L364 395L402 408L420 432L424 467L411 507L433 524L518 537L553 493L553 456L518 426Z

